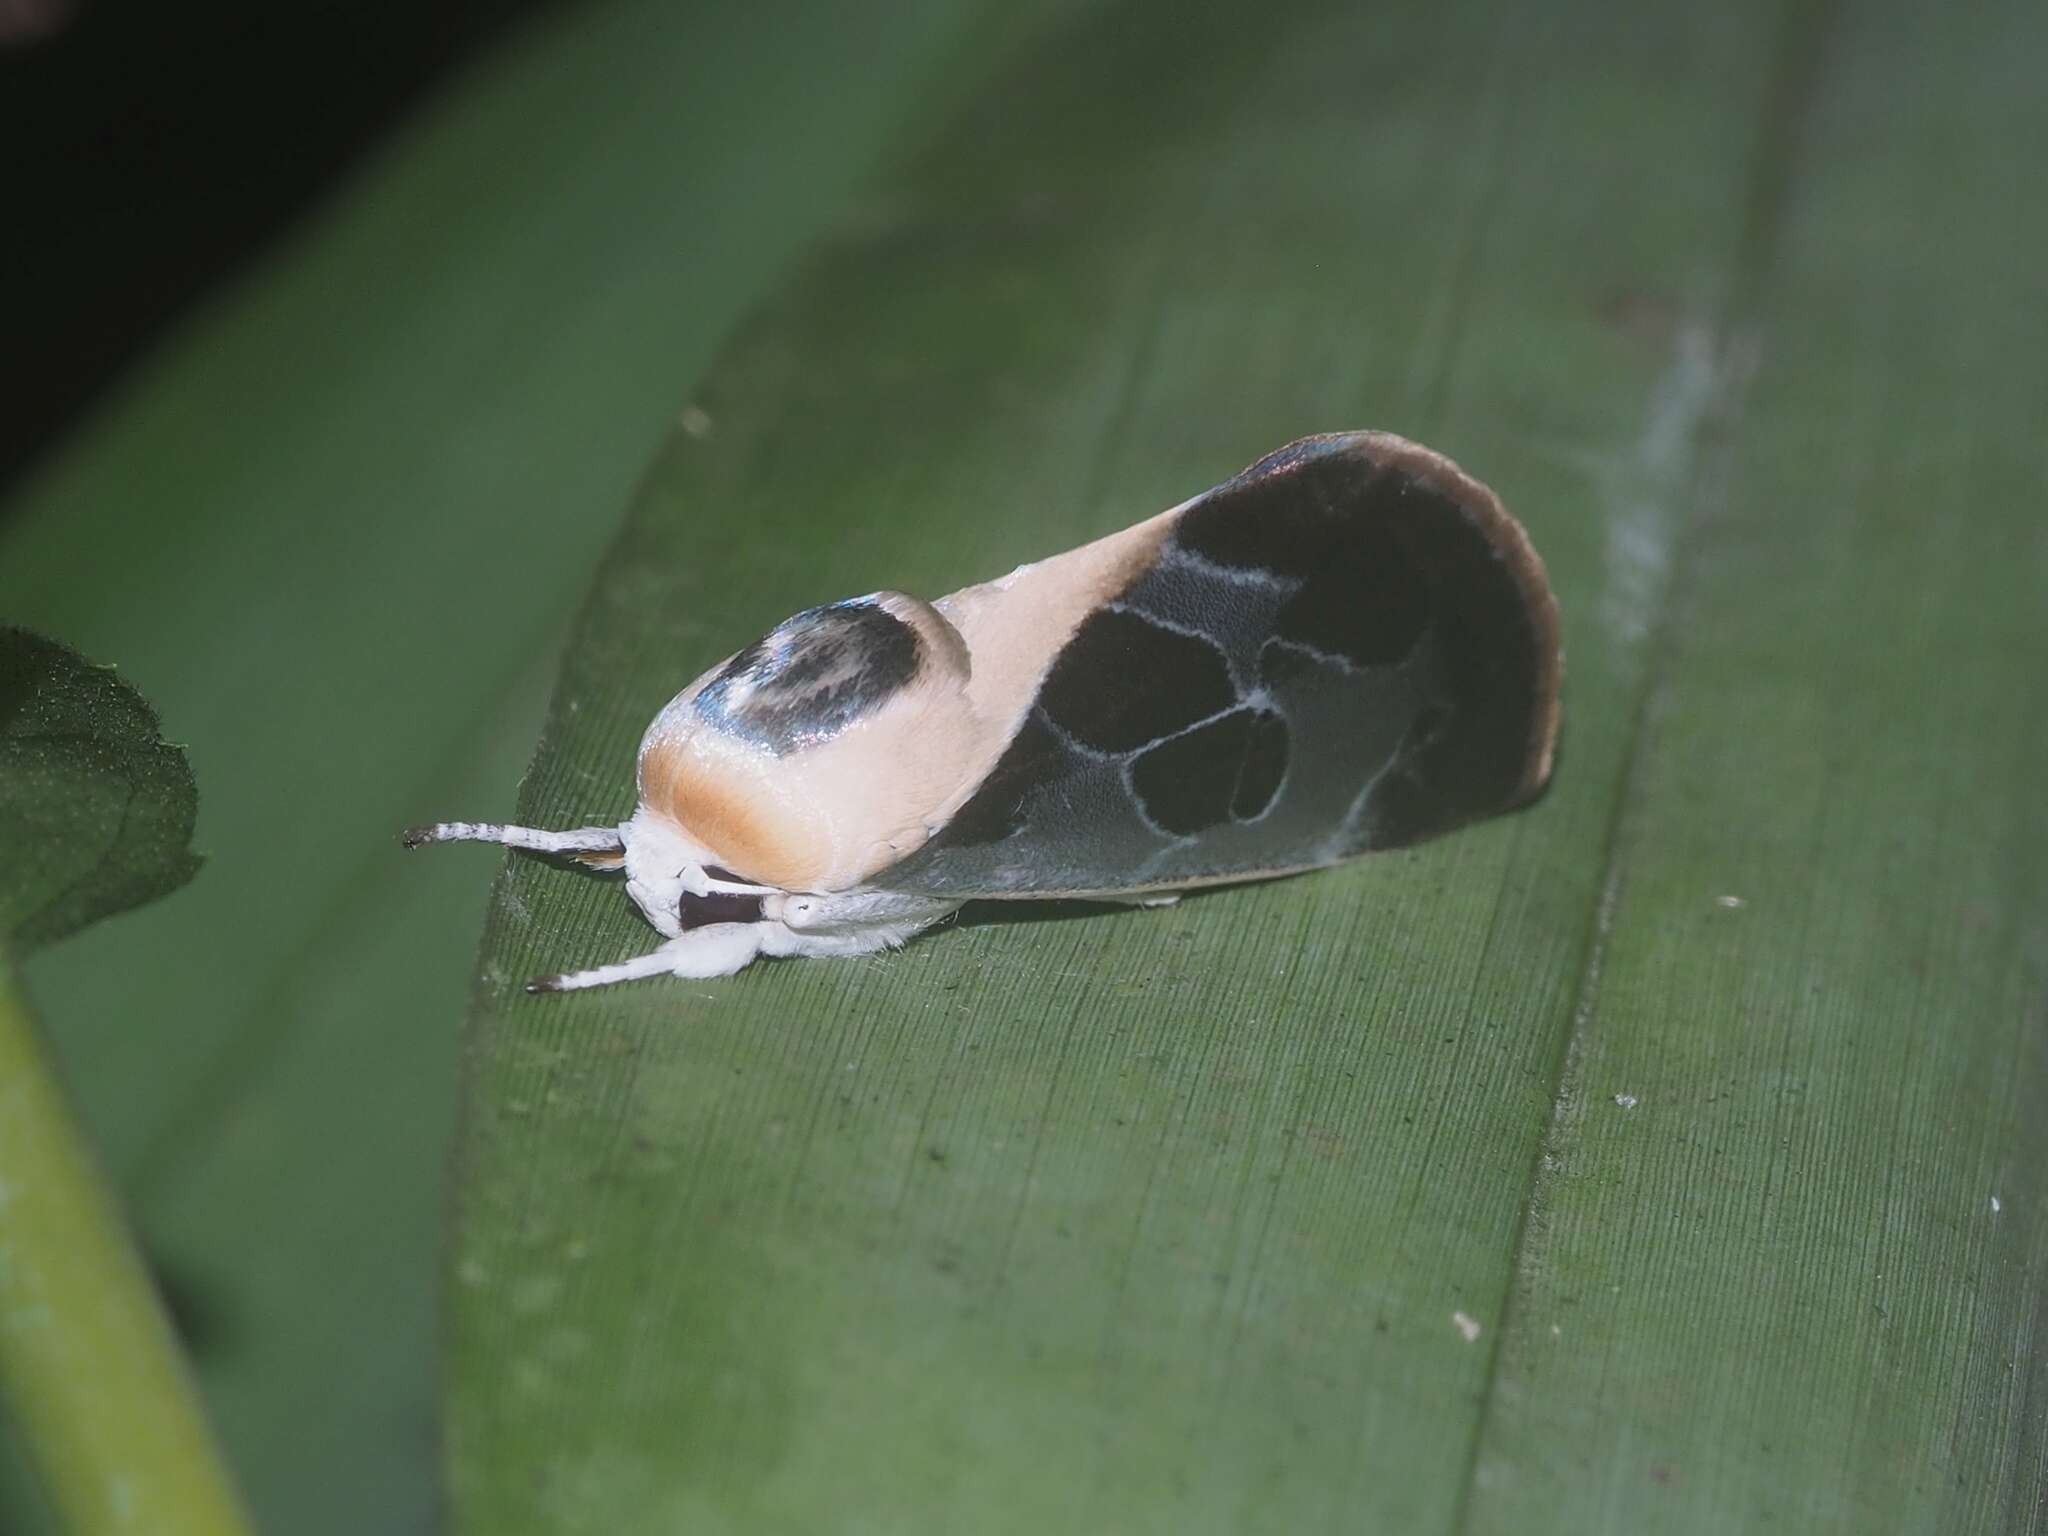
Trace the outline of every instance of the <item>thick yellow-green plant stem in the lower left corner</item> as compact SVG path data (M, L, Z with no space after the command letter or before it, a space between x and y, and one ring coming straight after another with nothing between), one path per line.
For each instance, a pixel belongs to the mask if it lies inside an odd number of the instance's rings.
M170 1323L6 956L0 1391L68 1530L250 1530Z

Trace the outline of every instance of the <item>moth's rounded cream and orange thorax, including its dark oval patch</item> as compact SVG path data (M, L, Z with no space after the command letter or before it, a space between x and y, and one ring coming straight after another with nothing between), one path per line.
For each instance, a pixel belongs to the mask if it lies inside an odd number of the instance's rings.
M877 592L809 608L655 717L635 821L668 823L745 881L856 885L924 844L975 762L967 674L967 645L928 602Z

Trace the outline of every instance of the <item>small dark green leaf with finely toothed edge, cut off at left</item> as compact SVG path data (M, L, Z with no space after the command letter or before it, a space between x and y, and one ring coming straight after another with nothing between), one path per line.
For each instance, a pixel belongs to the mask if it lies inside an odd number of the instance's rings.
M111 668L0 627L0 940L16 952L139 907L199 870L199 788Z

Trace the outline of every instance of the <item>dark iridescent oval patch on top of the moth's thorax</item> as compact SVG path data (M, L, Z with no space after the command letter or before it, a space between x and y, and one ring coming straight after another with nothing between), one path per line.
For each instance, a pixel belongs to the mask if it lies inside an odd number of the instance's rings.
M918 631L874 598L784 618L698 690L696 715L776 756L829 741L901 692L924 662Z

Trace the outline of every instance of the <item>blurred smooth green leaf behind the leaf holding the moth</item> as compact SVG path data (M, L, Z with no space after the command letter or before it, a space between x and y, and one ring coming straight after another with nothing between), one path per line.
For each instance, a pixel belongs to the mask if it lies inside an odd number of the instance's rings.
M29 979L268 1530L434 1518L483 881L395 831L512 809L711 346L979 14L610 0L518 33L0 516L0 614L119 662L207 784L207 879Z

